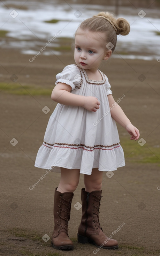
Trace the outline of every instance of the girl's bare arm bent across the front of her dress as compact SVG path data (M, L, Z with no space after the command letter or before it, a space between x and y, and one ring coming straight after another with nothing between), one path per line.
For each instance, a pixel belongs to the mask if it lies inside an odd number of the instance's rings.
M94 112L99 109L100 102L96 97L76 95L70 93L71 89L70 85L59 82L52 91L52 100L64 105L84 107Z

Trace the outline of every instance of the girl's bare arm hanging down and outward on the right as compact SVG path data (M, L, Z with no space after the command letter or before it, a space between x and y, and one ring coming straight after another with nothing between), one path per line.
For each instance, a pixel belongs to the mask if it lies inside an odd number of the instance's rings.
M131 136L131 140L138 140L139 130L132 125L128 117L124 114L122 108L115 103L115 100L111 94L108 95L109 106L112 108L111 116L119 123L123 128L125 128Z

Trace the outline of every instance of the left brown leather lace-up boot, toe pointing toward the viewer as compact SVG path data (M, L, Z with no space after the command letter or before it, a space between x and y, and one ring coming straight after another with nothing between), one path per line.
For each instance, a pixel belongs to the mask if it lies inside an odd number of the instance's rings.
M74 248L68 236L68 221L70 219L72 192L61 193L55 189L54 193L54 231L52 234L53 248L69 250Z

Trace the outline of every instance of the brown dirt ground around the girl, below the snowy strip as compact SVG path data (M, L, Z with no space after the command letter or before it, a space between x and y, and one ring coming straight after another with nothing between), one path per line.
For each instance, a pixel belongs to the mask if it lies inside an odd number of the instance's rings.
M13 49L0 49L0 56L0 78L5 86L18 83L34 85L37 90L42 86L51 92L55 75L64 66L74 63L72 55L65 54L58 57L41 55L31 63L31 55ZM115 100L125 94L120 106L139 129L146 147L158 149L160 63L157 60L126 60L122 56L108 60L100 69L109 78ZM15 83L10 78L13 74L17 76ZM131 161L132 152L140 147L135 141L125 152L126 166L114 171L112 178L104 173L102 182L100 223L105 234L119 242L119 249L96 251L91 244L77 243L81 209L77 210L74 205L81 203L82 174L74 192L69 221L74 250L59 251L51 247L51 239L45 242L42 237L45 234L51 237L53 232L54 189L60 174L51 172L33 190L29 187L46 171L34 167L34 163L56 103L50 96L14 95L3 89L0 102L0 255L160 255L160 165ZM42 111L44 106L50 109L47 114ZM123 141L129 140L130 136L122 127L118 126L118 129L123 146ZM158 154L155 155L160 159Z

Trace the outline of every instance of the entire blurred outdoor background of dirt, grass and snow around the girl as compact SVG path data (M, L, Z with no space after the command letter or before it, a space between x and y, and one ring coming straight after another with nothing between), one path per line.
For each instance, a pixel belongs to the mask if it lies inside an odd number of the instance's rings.
M119 105L140 131L139 140L131 141L117 125L126 166L111 179L104 172L102 227L112 234L126 223L115 237L119 254L160 255L160 0L0 1L1 255L62 256L50 247L51 240L41 239L53 232L53 195L60 174L51 172L32 191L29 187L46 171L34 164L56 106L51 99L55 76L75 63L78 25L101 11L130 23L129 35L117 36L115 51L100 70L109 78L115 101L125 95ZM81 202L82 187L80 175L69 226L76 252L68 255L93 256L94 246L78 244L76 237L81 210L74 204Z

